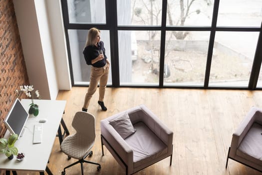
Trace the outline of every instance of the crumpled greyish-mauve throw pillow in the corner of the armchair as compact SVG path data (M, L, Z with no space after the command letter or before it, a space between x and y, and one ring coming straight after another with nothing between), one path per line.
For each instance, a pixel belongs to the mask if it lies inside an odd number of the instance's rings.
M123 139L136 131L127 113L119 115L118 117L109 121L114 129L121 135Z

